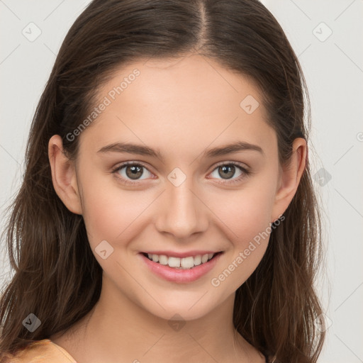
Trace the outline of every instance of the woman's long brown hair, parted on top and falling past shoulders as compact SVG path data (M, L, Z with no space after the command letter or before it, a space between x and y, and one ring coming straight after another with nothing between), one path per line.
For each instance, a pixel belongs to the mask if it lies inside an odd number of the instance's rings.
M14 353L50 337L91 311L102 269L82 216L52 186L48 141L60 135L77 160L78 138L67 138L94 107L99 87L126 63L199 52L250 77L262 91L279 160L289 162L295 138L308 142L310 106L301 66L277 20L257 0L94 0L62 43L35 111L26 172L9 207L6 243L15 274L0 300L0 351ZM309 160L284 222L235 296L233 323L274 362L314 363L324 333L314 281L322 258L320 211ZM41 321L31 333L23 320ZM0 357L0 362L4 362Z

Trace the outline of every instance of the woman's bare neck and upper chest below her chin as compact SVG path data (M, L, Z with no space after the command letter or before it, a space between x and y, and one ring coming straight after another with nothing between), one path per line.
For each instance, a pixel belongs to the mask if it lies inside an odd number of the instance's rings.
M233 326L235 294L201 318L165 320L104 282L92 311L71 329L72 347L58 340L77 362L263 362Z

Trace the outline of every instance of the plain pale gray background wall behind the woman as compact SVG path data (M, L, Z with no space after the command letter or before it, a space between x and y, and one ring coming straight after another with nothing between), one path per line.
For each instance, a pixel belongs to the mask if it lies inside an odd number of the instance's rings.
M310 156L322 198L327 260L318 291L329 325L319 362L363 362L363 1L263 3L296 51L311 96ZM57 51L87 4L0 0L1 213L20 186L30 122ZM11 277L4 241L0 272L3 285Z

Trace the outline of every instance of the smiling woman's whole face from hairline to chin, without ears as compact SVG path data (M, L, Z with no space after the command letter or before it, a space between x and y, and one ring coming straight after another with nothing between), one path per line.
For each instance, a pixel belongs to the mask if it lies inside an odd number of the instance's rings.
M257 87L193 55L122 67L99 100L74 187L104 284L162 318L210 313L254 272L292 198Z

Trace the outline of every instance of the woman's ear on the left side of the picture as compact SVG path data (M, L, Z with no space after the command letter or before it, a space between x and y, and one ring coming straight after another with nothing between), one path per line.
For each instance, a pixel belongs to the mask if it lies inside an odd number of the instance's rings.
M69 211L82 215L82 204L79 197L74 162L71 162L63 152L63 143L60 135L53 135L50 138L48 157L52 169L52 181L55 192Z

